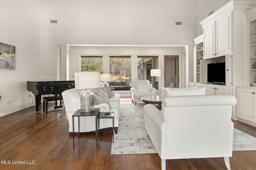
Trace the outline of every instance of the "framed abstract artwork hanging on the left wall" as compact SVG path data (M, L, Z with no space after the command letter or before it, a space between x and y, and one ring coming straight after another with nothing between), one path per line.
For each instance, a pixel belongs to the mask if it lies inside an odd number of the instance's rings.
M0 70L15 70L15 46L0 43Z

